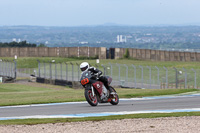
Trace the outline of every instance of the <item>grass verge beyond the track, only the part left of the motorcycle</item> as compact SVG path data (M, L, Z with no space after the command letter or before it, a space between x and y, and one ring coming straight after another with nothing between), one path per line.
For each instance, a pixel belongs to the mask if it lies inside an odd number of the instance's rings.
M83 101L82 89L26 83L1 84L0 106Z

